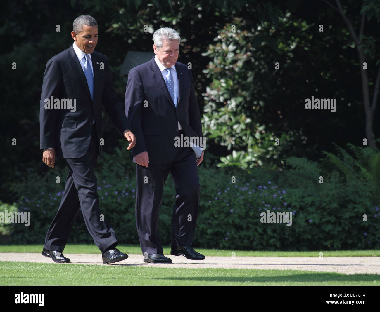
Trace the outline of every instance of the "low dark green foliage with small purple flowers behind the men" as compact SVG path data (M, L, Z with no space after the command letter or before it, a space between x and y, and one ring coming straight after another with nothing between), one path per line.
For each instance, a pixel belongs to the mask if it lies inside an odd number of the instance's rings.
M123 142L123 141L122 141ZM106 221L120 243L138 244L135 224L135 165L127 144L98 161L98 194ZM256 168L252 174L227 167L198 168L201 201L194 246L242 250L334 250L380 247L380 217L370 189L363 179L346 180L331 172L320 184L318 165L304 159L288 159L296 169L282 173ZM321 169L322 170L322 169ZM9 243L43 243L60 201L66 169L49 170L44 177L30 175L14 188L19 211L31 213L29 227L15 224ZM231 183L233 177L236 183ZM36 183L36 181L38 181ZM23 198L21 198L23 196ZM171 214L175 199L169 176L160 210L160 236L171 243ZM291 212L292 225L261 223L260 213ZM363 221L367 214L367 222ZM370 243L368 243L370 242ZM79 217L69 243L92 243Z

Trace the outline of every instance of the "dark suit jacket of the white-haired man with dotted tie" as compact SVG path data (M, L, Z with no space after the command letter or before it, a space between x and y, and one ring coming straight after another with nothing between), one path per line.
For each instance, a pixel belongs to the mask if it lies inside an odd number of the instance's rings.
M174 146L174 138L179 135L178 121L185 136L202 136L192 73L182 63L176 62L174 66L179 80L177 109L154 57L132 68L128 74L125 115L136 136L136 146L131 155L147 151L150 164L170 164L173 161L178 151Z

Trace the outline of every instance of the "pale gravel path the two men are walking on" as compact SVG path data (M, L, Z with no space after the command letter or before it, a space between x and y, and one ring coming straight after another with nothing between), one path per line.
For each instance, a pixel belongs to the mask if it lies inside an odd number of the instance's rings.
M103 265L101 254L66 254L71 264ZM206 257L206 260L188 260L166 255L171 264L151 264L142 261L142 255L129 254L128 259L114 265L154 265L165 268L236 268L236 269L293 269L303 271L337 272L344 274L380 274L380 257ZM40 253L0 253L0 261L52 263ZM57 263L57 265L60 265ZM63 263L62 265L70 265Z

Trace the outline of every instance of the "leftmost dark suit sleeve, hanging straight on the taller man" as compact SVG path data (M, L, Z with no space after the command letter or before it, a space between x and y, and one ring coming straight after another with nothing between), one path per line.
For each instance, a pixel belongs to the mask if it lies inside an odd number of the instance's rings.
M55 148L56 127L58 123L58 110L45 108L47 99L60 98L62 85L62 72L57 61L52 58L47 61L42 85L40 100L40 149ZM54 103L50 103L51 107Z

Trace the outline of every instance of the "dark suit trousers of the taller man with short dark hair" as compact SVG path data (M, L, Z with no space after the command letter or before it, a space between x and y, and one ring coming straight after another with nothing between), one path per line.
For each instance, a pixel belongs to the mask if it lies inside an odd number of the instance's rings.
M96 126L93 125L89 149L81 158L66 159L69 174L66 178L58 212L47 231L44 248L63 251L79 208L95 245L101 252L117 243L116 233L106 221L100 221L98 184L95 164L99 155ZM104 218L102 218L103 220Z

